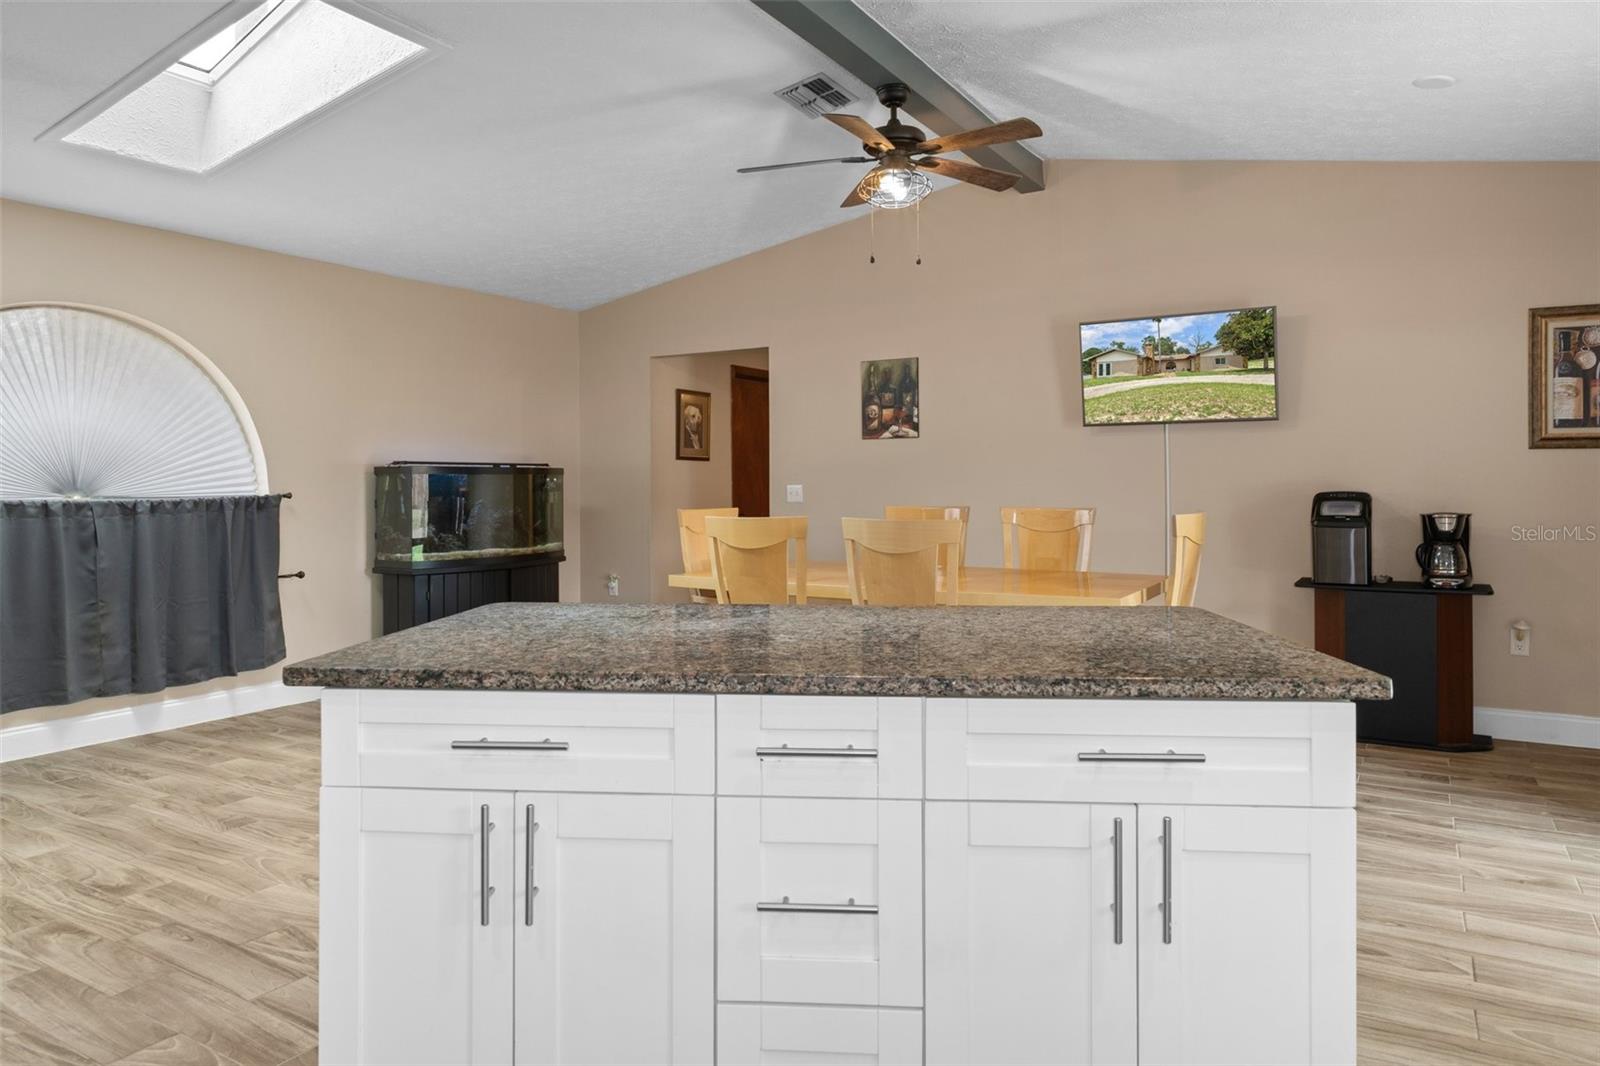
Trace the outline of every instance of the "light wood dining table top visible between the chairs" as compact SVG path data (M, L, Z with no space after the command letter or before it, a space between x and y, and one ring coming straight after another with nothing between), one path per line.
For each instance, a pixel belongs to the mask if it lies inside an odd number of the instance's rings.
M939 581L944 581L941 573ZM1162 594L1166 576L1160 573L1118 573L1110 570L1014 570L1008 567L962 567L957 603L963 607L1138 607ZM715 594L710 571L667 575L667 586ZM942 584L941 584L942 587ZM789 573L789 594L795 594ZM808 600L850 600L845 562L813 560L806 565Z

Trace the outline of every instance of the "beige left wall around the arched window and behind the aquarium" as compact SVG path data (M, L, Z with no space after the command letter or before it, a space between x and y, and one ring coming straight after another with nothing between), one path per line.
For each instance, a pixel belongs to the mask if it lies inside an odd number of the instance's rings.
M578 594L578 315L238 245L0 203L0 303L126 311L178 333L238 389L283 504L288 661L378 632L374 464L566 467L563 599ZM277 677L5 715L5 727Z

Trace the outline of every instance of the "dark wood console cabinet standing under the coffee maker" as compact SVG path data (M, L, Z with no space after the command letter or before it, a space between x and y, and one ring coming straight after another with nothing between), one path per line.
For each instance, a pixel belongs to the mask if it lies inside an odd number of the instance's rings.
M1358 699L1355 736L1378 744L1488 751L1472 731L1472 600L1486 584L1435 589L1421 581L1317 584L1317 650L1394 679L1394 699Z

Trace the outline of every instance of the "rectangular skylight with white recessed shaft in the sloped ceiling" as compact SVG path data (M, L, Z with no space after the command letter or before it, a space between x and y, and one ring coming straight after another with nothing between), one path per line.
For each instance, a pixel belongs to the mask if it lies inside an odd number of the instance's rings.
M61 139L203 174L427 54L379 19L323 0L250 5Z

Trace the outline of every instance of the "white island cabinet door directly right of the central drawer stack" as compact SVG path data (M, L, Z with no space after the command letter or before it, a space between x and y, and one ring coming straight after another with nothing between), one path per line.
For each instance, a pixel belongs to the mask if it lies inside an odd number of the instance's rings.
M1138 1061L1134 808L930 802L926 824L928 1061Z

